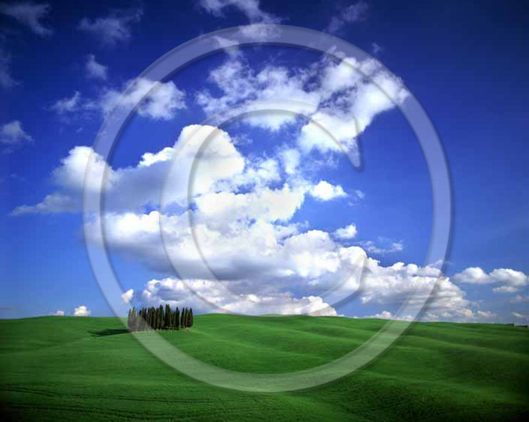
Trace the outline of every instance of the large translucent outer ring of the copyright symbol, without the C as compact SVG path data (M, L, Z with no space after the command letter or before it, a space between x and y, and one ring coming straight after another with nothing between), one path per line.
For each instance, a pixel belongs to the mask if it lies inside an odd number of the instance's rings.
M366 54L356 46L319 31L296 26L272 24L264 27L266 31L256 32L249 27L241 26L199 36L188 41L188 43L178 46L158 59L158 61L155 61L154 64L138 76L138 79L143 78L160 82L192 61L215 53L215 51L255 44L294 46L328 54L337 59L343 59L344 57L354 57L359 61L372 59L369 54ZM387 69L385 70L391 74ZM155 86L153 89L155 89ZM127 94L128 91L125 91L123 96L127 96ZM148 94L146 92L145 96ZM442 266L451 233L451 184L448 166L441 141L433 124L431 124L426 112L415 97L409 91L408 94L405 101L398 101L398 99L391 98L391 95L389 96L394 104L399 107L401 113L409 122L411 129L416 134L428 165L433 195L433 221L425 265L433 266L441 263ZM386 93L386 95L388 94ZM135 109L143 99L140 99L138 104L118 101L113 111L106 117L96 136L93 146L95 154L92 154L88 161L85 175L85 186L87 181L90 181L91 186L99 186L100 188L96 195L88 191L88 189L83 191L84 227L85 230L88 227L91 230L91 233L89 233L91 241L86 242L86 249L96 281L115 315L123 314L123 303L121 302L123 288L121 288L118 278L115 276L105 243L102 194L104 186L106 186L108 167L94 164L98 162L99 156L108 161L115 141L119 138L128 119L135 113ZM88 223L90 224L88 225ZM87 234L86 238L88 237ZM441 271L439 271L439 277L442 277ZM426 304L434 286L435 284L431 285L430 291L426 292L428 294L425 294L424 290L417 297L412 293L399 309L396 318L404 315L416 317ZM336 298L334 297L332 303L336 303ZM230 371L189 356L174 344L165 340L163 336L144 336L143 333L133 333L133 336L161 361L180 371L180 373L184 373L199 381L240 391L277 392L310 388L346 376L366 365L366 363L369 363L369 361L391 346L404 333L409 323L410 321L389 321L361 346L341 358L322 366L294 373L274 374Z

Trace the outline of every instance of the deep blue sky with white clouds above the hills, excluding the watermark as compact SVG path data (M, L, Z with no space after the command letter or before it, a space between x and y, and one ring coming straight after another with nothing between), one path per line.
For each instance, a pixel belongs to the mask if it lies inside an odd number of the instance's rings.
M170 49L217 29L281 23L331 32L372 54L373 75L403 98L406 86L436 126L451 171L453 233L447 278L423 318L529 318L529 59L523 4L210 0L178 6L116 1L108 8L11 1L0 11L0 218L6 268L1 317L111 314L83 241L78 181L91 150L81 147L93 144L105 114L130 81ZM167 260L160 261L150 225L158 221L152 212L163 210L151 197L159 197L156 183L170 170L170 161L158 154L147 165L143 154L171 148L187 126L267 92L281 99L290 87L289 99L324 101L322 86L341 81L326 75L340 65L311 51L257 46L220 51L163 81L108 160L118 187L108 192L113 199L105 214L106 240L123 289L133 291L125 299L212 310L189 295ZM164 214L168 226L175 225L170 226L174 261L190 268L183 270L185 280L228 311L318 311L327 303L322 292L329 283L351 270L347 253L369 257L370 278L356 301L332 307L331 313L394 315L410 286L427 288L438 277L422 267L431 188L414 133L395 104L381 109L371 105L371 94L347 96L364 92L369 83L344 81L345 91L334 89L332 101L325 98L333 112L341 110L341 99L349 101L346 116L353 109L369 115L356 136L343 126L342 141L351 149L361 145L362 171L344 154L322 147L303 119L284 119L278 126L277 119L265 116L225 124L217 132L213 144L227 161L218 168L205 161L204 180L199 175L198 183L211 186L197 192L193 215L207 228L205 249L211 248L215 273L225 274L221 284L227 292L196 273L193 257L180 249L188 241L180 233L183 209ZM131 88L145 94L149 81ZM309 114L317 117L322 109L323 102ZM333 123L334 129L342 127ZM298 156L291 169L287 157ZM61 202L46 203L47 195ZM263 211L260 204L271 197L279 208ZM224 213L218 211L222 206ZM339 231L350 225L356 230ZM208 243L213 232L220 243ZM269 243L263 246L263 239ZM399 262L404 266L394 265ZM354 290L354 283L350 287Z

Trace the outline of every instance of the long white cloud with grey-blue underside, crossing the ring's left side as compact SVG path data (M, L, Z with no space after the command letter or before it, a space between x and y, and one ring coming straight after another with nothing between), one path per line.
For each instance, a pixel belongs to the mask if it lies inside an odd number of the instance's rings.
M173 183L165 190L165 198L169 203L187 204L189 175L195 162L195 156L205 139L210 136L207 149L202 151L200 161L192 178L193 194L202 195L209 192L222 179L232 179L241 176L241 183L250 179L255 181L266 179L270 169L266 163L262 167L247 163L232 144L230 136L225 131L212 126L186 126L173 147L167 147L156 154L143 154L137 166L123 169L111 169L101 156L93 153L88 146L76 146L69 151L66 158L61 160L52 174L52 181L58 190L46 196L40 204L34 206L19 206L13 213L57 213L75 212L81 209L81 194L83 185L96 194L98 186L95 179L86 179L86 166L93 154L93 169L95 174L106 172L108 175L106 191L107 210L138 210L149 204L158 204L161 189L166 174L170 169L171 159L178 151L180 170ZM243 177L244 176L244 177ZM273 174L272 174L273 178ZM263 195L267 195L263 193Z

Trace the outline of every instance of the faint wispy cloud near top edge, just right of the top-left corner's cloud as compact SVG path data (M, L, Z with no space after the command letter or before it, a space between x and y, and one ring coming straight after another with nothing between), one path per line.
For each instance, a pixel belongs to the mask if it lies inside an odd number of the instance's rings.
M139 22L142 15L141 9L114 10L105 17L83 18L78 29L96 36L106 46L115 46L130 39L131 26Z

